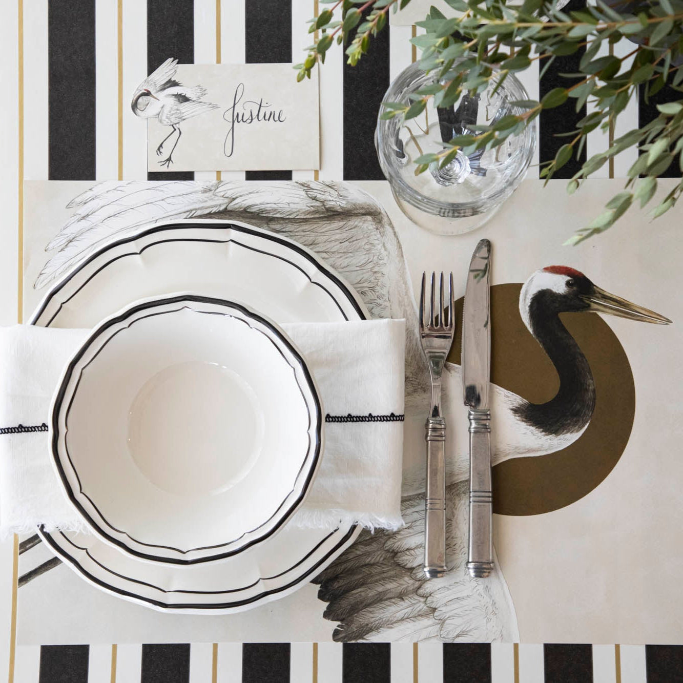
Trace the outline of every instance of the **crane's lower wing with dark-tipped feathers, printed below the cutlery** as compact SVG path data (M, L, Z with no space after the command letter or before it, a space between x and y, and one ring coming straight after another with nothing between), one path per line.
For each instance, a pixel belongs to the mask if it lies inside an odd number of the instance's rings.
M318 597L328 603L325 617L338 622L335 640L500 641L516 634L500 572L487 581L466 572L467 500L464 482L447 487L449 572L443 578L423 575L423 494L404 497L405 527L363 531L360 548L352 546L316 577Z

